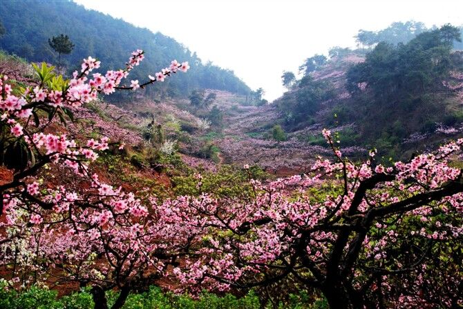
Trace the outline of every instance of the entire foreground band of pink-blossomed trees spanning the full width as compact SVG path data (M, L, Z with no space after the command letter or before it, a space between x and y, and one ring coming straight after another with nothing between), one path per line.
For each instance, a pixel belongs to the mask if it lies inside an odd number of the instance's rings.
M89 57L70 81L36 66L39 83L26 88L2 77L0 259L10 288L91 286L95 308L108 308L105 291L117 289L112 308L122 308L131 291L176 275L193 294L296 282L331 308L463 304L462 170L448 164L463 139L384 167L375 152L363 163L343 157L324 130L334 161L319 158L306 175L249 179L253 194L239 199L160 201L92 172L99 152L123 145L82 143L51 125L72 121L69 107L99 92L144 88L189 68L172 61L145 83L122 85L143 58L137 50L124 70L90 75L100 62ZM48 166L72 171L82 186L37 179Z

